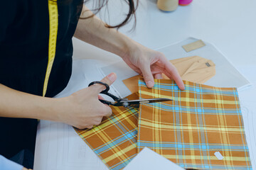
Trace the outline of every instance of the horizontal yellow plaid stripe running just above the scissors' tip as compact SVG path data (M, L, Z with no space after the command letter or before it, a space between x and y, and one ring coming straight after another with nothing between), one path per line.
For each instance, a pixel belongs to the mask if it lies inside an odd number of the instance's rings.
M160 95L151 95L151 92L148 91L141 91L141 94L148 95L148 96L159 96L159 98L171 98L174 101L184 101L184 102L201 102L200 98L176 98L176 97L170 97L166 96L164 94ZM156 98L156 97L155 97ZM216 103L216 104L230 104L230 105L235 105L236 101L223 101L220 99L203 99L203 103Z

